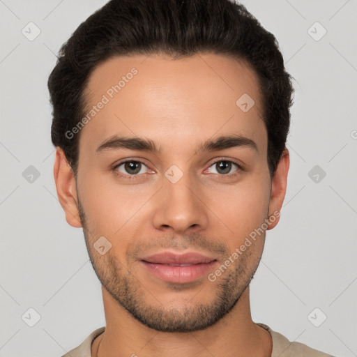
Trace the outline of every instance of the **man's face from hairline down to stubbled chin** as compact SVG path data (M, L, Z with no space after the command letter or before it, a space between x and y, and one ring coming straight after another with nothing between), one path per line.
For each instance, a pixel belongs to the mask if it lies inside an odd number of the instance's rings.
M257 75L217 54L115 57L85 94L76 204L63 208L75 227L79 215L100 282L158 331L215 324L248 287L284 196L287 165L275 184L268 172ZM205 259L182 266L162 252Z

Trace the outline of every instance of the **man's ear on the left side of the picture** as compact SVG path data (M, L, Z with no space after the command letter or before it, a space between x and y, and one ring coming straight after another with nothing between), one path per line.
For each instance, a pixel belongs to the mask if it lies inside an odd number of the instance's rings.
M66 155L59 146L56 147L53 174L59 203L66 214L68 225L76 228L82 227L77 205L75 174L67 162Z

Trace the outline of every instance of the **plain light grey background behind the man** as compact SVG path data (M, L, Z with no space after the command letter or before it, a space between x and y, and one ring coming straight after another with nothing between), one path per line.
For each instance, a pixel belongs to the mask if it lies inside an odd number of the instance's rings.
M105 326L82 229L67 225L56 197L47 93L60 45L105 2L0 0L0 356L61 356ZM290 340L357 356L357 1L243 3L296 79L287 195L252 282L252 316ZM40 29L32 41L29 22ZM40 315L33 327L29 308Z

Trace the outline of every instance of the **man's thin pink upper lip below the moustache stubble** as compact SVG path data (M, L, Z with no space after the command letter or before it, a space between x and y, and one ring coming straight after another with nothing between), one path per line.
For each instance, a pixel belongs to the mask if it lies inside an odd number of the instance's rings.
M144 257L140 260L157 264L199 264L210 263L216 259L215 257L209 257L196 252L186 252L181 255L175 254L173 252L162 252L150 255L149 257Z

